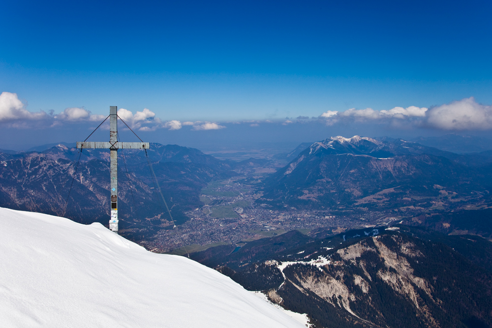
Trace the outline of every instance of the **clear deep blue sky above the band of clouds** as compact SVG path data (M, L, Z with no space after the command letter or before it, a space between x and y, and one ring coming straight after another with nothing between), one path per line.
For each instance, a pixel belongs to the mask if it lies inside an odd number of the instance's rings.
M0 92L29 112L117 105L219 125L469 97L488 115L491 14L490 1L4 1Z

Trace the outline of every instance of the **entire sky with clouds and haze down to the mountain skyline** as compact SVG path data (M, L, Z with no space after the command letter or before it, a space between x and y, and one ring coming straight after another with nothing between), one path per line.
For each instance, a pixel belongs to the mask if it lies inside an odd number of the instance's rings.
M195 148L489 137L491 9L12 1L0 22L0 148L83 140L110 105L142 138Z

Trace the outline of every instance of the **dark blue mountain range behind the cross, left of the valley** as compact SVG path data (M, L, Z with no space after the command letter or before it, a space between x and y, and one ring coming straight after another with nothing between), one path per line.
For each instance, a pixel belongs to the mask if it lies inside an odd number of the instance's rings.
M184 211L203 205L199 193L208 182L234 175L230 163L197 149L151 144L147 151L177 223L187 220ZM109 150L83 149L80 154L58 145L42 152L1 155L1 207L62 215L80 156L65 216L81 223L109 221ZM145 151L119 151L118 161L122 234L145 235L169 226Z

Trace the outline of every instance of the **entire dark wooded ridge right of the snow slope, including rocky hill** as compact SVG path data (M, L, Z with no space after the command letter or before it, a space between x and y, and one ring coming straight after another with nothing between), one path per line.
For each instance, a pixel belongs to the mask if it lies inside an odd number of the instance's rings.
M492 327L492 244L407 226L299 232L192 257L316 327Z

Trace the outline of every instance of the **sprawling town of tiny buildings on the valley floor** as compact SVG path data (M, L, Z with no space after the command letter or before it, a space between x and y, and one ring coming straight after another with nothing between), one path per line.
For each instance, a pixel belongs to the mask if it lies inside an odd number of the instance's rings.
M154 251L170 251L190 244L247 242L265 237L261 232L279 229L343 229L369 223L360 217L334 215L326 211L267 209L254 202L254 189L246 185L225 184L212 193L202 195L210 200L207 206L186 212L190 218L188 221L175 230L159 231L154 240L148 241L145 246ZM238 202L241 202L241 206L235 206ZM214 212L221 206L229 206L234 215L214 217ZM377 215L369 212L365 217L369 221Z

